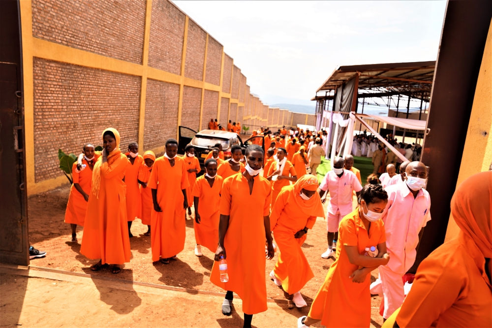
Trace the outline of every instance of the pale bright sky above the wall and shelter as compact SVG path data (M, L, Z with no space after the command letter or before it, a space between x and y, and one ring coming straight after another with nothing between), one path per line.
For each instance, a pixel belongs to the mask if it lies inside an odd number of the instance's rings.
M446 1L174 1L264 102L312 104L342 65L433 61Z

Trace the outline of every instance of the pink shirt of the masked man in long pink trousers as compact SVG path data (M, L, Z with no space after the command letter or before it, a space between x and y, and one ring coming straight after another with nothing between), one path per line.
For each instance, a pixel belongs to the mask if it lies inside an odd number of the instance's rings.
M403 275L415 262L420 230L431 220L431 197L427 190L421 189L414 198L406 183L387 187L386 192L388 204L382 220L390 253L387 265Z

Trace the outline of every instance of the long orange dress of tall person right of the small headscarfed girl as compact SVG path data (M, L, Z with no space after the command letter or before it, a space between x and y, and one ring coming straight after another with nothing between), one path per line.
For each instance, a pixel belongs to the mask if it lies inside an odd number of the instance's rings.
M152 211L152 261L168 259L184 249L186 223L184 195L189 186L186 164L181 157L174 158L174 166L162 156L155 160L147 188L157 190L157 203L162 212Z

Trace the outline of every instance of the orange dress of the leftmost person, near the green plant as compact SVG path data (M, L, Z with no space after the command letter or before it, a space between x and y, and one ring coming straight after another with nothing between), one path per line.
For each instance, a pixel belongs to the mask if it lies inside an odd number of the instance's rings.
M82 160L82 164L86 164L87 166L80 172L77 172L77 163L74 163L72 166L73 183L78 183L84 193L91 195L92 169L89 167L86 159ZM65 223L71 223L84 227L86 211L87 201L84 199L84 196L82 196L82 194L79 193L79 191L72 185L72 187L70 187L68 203L66 204Z

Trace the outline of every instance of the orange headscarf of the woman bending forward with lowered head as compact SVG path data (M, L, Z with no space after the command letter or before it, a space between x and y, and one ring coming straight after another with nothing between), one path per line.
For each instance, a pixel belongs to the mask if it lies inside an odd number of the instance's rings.
M311 174L305 174L300 177L294 184L294 199L304 214L309 216L324 217L323 205L318 193L314 193L308 200L299 196L303 189L316 191L318 189L318 179Z

